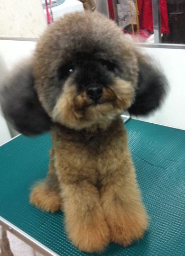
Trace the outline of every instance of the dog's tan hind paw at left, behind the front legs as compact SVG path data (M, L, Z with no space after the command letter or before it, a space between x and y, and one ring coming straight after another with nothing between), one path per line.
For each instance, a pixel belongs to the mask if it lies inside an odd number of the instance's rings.
M30 203L45 212L54 213L61 209L61 198L57 191L50 190L45 182L33 187L30 194Z

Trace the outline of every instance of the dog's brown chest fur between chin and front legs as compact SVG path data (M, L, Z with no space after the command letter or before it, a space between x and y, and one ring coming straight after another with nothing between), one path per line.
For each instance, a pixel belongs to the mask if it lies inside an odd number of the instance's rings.
M89 179L99 186L105 175L124 164L127 135L120 117L94 134L56 126L51 135L55 167L62 182Z

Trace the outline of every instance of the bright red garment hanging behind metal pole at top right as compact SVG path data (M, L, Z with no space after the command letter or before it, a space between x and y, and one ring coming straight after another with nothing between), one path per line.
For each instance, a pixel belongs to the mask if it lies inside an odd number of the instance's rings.
M140 29L153 32L152 0L137 0ZM168 9L166 0L160 0L161 7L161 33L169 34Z

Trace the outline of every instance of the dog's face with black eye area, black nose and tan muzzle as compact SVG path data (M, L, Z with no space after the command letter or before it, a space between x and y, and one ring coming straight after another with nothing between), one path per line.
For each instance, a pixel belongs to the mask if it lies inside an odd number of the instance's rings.
M97 58L96 54L78 54L78 58L63 63L57 70L58 83L52 86L48 105L50 116L54 122L70 127L84 129L92 125L106 126L115 116L131 104L134 89L131 81L126 81L123 68L118 62ZM51 80L50 80L51 81ZM44 89L44 97L51 86ZM58 97L54 92L61 89ZM47 94L45 94L47 93ZM109 121L107 123L107 120ZM106 123L106 125L105 125Z

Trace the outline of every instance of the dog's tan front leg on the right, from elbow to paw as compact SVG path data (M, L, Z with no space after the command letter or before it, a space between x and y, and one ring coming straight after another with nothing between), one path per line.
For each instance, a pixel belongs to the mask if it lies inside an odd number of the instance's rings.
M148 217L141 200L131 159L109 171L103 180L101 202L112 242L128 246L142 238Z

